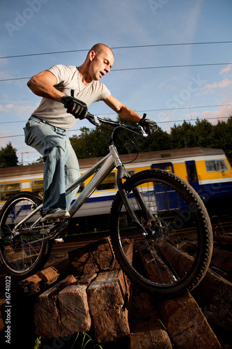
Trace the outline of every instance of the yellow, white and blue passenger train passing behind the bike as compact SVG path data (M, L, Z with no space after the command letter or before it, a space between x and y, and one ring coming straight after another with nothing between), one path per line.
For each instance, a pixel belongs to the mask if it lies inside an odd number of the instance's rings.
M81 173L86 172L99 160L100 158L80 159ZM153 168L177 174L199 193L211 215L231 211L232 168L222 149L193 147L150 151L139 153L137 158L136 154L124 154L121 155L121 160L130 174ZM1 168L0 209L10 196L20 191L31 191L42 197L42 177L43 164ZM77 195L89 180L80 186ZM77 211L75 217L109 215L116 191L116 169L114 169Z

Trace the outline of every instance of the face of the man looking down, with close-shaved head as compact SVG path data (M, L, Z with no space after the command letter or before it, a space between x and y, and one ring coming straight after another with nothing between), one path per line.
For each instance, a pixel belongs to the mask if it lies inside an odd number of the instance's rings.
M100 52L91 52L90 74L93 80L100 80L102 76L109 73L114 64L114 54L109 48L105 48Z

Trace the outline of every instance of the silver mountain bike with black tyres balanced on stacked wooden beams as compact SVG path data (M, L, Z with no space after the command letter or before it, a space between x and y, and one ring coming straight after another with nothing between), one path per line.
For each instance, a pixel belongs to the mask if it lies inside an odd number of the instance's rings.
M212 255L212 228L206 207L192 186L160 169L130 174L115 140L122 130L146 137L141 126L108 121L89 114L95 126L111 126L109 153L66 189L66 194L93 176L69 209L70 218L116 168L118 192L111 206L111 244L129 279L160 297L184 295L206 274ZM123 131L123 132L124 132ZM20 192L0 215L0 260L15 279L35 274L47 262L54 239L70 218L41 222L42 199Z

